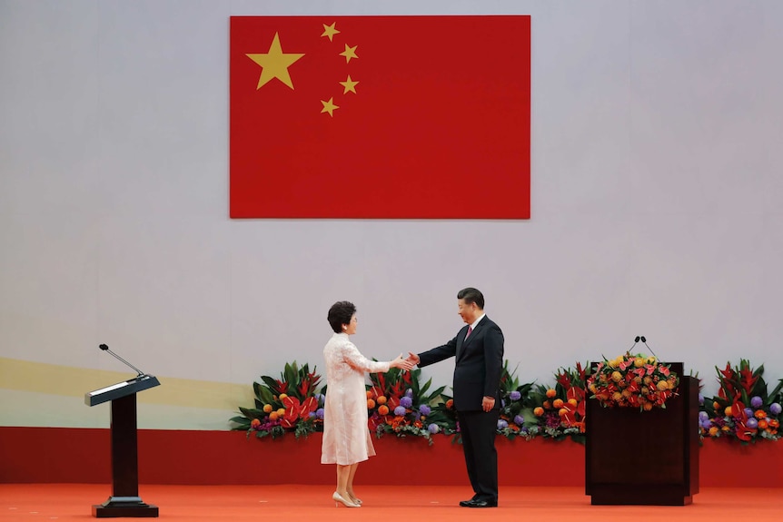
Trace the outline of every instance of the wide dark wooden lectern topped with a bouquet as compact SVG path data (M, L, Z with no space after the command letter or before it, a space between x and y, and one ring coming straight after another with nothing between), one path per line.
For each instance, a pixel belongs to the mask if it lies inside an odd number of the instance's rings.
M593 505L685 506L699 493L699 380L673 362L666 409L603 408L588 399L585 493ZM595 364L593 364L593 369Z

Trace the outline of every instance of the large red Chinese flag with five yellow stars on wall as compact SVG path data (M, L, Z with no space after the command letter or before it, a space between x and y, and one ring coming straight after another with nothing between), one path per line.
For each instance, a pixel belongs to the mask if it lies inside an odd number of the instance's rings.
M233 16L231 217L530 218L530 16Z

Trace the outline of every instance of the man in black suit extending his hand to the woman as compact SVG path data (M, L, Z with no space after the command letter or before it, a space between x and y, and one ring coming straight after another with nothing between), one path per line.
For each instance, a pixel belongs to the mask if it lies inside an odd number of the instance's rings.
M443 346L408 360L420 367L450 357L454 366L454 409L460 422L462 449L475 495L462 507L498 505L498 452L495 432L500 416L500 382L503 369L503 332L484 314L481 291L466 288L457 293L457 306L466 325Z

